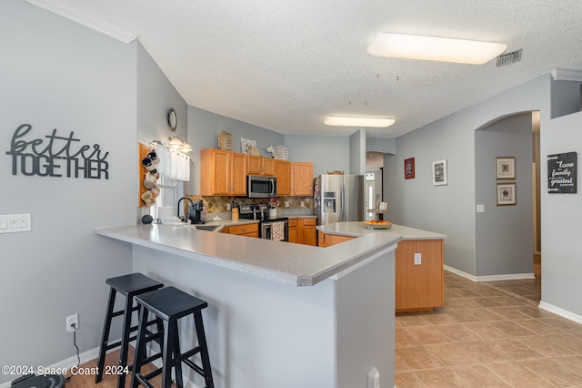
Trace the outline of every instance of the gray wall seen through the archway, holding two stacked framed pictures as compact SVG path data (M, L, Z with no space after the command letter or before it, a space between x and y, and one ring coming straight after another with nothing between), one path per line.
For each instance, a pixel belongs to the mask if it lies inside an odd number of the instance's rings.
M516 158L516 179L497 180L495 158ZM475 132L476 275L533 273L531 113L503 118ZM516 206L497 206L496 183L515 182Z

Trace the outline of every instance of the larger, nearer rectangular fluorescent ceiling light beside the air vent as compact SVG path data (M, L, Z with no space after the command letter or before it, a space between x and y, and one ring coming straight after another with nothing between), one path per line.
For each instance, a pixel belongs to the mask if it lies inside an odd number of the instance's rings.
M502 43L448 37L380 33L367 46L372 56L483 65L506 51Z

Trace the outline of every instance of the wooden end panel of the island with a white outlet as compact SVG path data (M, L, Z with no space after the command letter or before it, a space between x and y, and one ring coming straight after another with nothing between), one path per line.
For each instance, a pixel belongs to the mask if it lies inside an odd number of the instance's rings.
M415 254L420 264L415 265ZM443 240L402 240L396 247L396 312L445 305Z

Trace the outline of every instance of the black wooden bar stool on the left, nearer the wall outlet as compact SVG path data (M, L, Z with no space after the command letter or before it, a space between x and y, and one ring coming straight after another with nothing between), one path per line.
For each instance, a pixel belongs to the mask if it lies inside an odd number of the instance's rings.
M105 353L108 350L121 346L119 351L119 366L121 371L117 373L117 387L125 387L125 368L131 371L133 365L127 366L127 352L129 342L132 342L137 337L131 336L132 332L137 330L137 326L131 326L131 316L133 311L137 311L139 306L135 305L134 299L136 295L144 292L154 291L164 287L164 283L148 278L143 273L131 273L116 278L110 278L105 281L111 287L109 291L109 301L107 303L107 311L105 313L105 322L103 324L103 335L101 337L101 345L99 347L99 358L97 359L97 374L95 375L95 383L103 380L103 368L105 366ZM114 311L115 295L119 292L125 296L125 308L123 310ZM124 325L121 334L121 340L109 343L109 332L111 329L111 321L114 317L123 315ZM152 324L156 321L148 322ZM158 330L162 330L161 322L158 323Z

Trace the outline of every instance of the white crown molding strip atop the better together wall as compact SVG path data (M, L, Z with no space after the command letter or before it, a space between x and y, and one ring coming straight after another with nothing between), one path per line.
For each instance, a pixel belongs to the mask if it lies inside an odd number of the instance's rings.
M105 34L106 36L111 36L126 44L130 44L138 37L133 33L106 23L94 15L89 15L76 9L74 6L67 5L58 0L25 0L25 2L31 5L36 5L40 8L44 8L45 10L50 11L56 15L61 15L66 19L94 29L95 31Z

